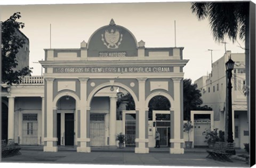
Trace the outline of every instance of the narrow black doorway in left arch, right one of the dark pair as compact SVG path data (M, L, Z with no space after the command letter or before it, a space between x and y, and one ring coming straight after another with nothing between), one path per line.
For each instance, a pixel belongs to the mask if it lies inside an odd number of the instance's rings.
M65 114L65 146L74 146L74 113Z

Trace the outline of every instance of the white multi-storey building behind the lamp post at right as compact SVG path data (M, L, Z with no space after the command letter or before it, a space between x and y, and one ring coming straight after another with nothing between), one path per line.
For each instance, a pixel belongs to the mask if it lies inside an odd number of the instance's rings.
M225 131L225 111L227 78L226 66L228 57L235 61L232 88L232 116L233 139L235 147L244 148L243 143L249 143L249 123L247 121L247 103L243 94L245 86L245 54L231 53L227 51L219 60L213 62L212 72L208 76L202 76L195 83L201 90L203 105L211 107L214 111L214 127ZM225 131L225 134L227 130Z

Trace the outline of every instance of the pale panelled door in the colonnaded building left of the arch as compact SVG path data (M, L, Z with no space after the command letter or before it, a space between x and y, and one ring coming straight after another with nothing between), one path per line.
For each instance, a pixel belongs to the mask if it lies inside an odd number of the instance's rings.
M22 115L22 144L37 145L37 114Z

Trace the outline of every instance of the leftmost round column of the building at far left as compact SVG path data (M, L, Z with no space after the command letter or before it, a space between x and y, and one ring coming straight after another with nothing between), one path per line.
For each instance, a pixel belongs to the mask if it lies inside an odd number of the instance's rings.
M14 97L8 98L8 139L14 140Z

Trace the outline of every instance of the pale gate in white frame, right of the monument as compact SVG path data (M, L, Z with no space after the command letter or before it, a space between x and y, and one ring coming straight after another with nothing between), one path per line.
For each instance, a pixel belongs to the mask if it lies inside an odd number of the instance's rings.
M204 142L203 132L209 130L211 130L210 119L197 119L194 121L194 146L207 146L207 142Z

